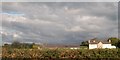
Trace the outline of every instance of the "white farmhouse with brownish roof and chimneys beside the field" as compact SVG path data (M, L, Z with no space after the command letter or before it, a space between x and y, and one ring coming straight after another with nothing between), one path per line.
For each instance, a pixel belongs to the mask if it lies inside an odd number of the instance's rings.
M111 40L108 41L102 41L102 40L96 40L91 39L88 41L89 43L89 49L95 49L95 48L116 48L116 46L111 45Z

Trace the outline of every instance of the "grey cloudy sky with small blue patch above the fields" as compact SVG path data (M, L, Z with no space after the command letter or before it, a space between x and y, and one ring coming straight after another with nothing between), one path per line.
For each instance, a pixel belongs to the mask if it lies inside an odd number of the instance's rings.
M2 42L80 44L118 37L117 2L4 2L1 8Z

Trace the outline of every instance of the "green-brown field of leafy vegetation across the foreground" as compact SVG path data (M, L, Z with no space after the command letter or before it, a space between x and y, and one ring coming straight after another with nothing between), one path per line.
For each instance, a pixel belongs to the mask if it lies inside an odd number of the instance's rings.
M23 58L34 59L120 59L120 49L2 49L2 60L15 58L15 60Z

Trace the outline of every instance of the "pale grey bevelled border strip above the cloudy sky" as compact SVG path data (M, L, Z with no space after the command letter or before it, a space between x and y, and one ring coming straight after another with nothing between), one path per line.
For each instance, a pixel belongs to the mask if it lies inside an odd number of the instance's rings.
M2 0L2 2L118 2L119 0Z

